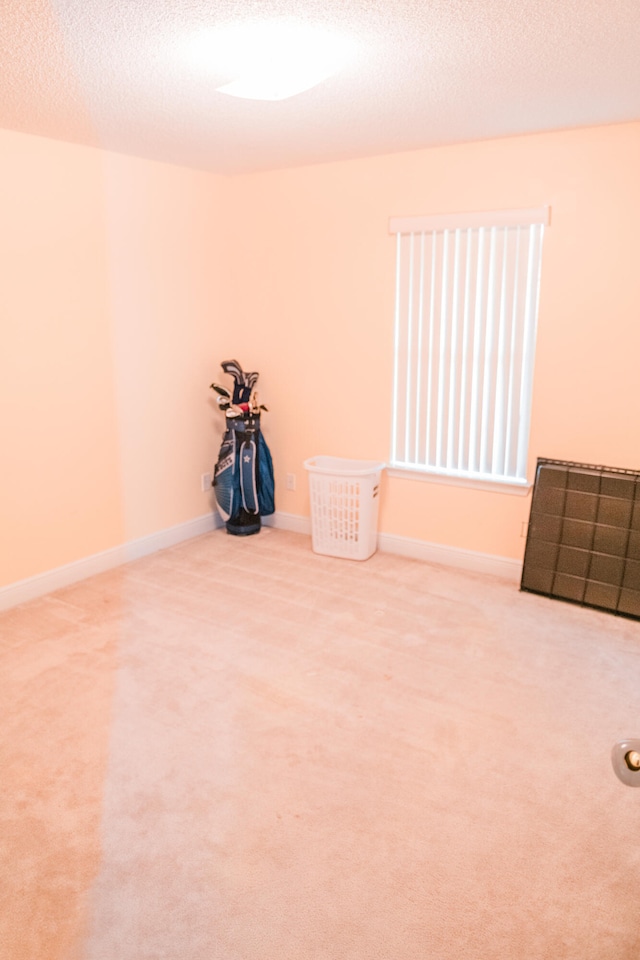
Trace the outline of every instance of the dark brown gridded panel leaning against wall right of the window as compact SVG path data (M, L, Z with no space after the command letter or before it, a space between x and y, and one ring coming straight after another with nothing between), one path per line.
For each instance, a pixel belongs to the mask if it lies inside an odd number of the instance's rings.
M520 588L640 619L640 471L538 460Z

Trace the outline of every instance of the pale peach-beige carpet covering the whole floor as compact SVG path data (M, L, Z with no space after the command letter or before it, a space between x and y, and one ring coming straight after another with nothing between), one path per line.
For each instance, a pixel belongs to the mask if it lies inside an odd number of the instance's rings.
M637 960L640 624L223 531L0 615L2 960Z

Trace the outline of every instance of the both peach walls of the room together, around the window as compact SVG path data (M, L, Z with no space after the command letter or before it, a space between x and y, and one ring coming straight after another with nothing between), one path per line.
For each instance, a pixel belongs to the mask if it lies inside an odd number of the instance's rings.
M551 205L530 474L637 467L638 169L640 124L230 179L0 132L0 585L207 512L227 356L261 372L280 510L308 456L386 459L390 215ZM520 557L528 510L386 478L381 528Z

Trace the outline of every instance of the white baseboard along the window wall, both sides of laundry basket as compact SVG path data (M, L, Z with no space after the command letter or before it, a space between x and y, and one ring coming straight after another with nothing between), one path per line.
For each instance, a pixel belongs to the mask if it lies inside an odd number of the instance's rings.
M311 535L311 518L295 513L277 511L272 517L265 517L264 524L280 530ZM460 547L446 547L441 543L429 543L426 540L414 540L411 537L398 537L393 533L378 534L378 550L383 553L395 553L401 557L424 560L427 563L439 563L444 567L457 567L459 570L472 570L475 573L489 573L520 583L522 563L511 557L500 557L490 553L477 553L475 550L463 550Z

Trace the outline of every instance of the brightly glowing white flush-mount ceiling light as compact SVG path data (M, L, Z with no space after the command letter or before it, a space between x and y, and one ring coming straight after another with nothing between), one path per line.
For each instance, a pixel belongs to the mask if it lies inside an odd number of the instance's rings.
M241 21L202 35L191 55L226 81L216 90L250 100L286 100L337 73L352 42L293 20Z

